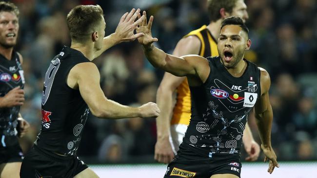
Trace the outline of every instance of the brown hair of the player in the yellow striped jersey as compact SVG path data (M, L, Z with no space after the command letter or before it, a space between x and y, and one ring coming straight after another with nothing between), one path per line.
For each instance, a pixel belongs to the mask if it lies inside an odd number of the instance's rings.
M210 21L217 21L221 18L220 9L228 13L232 13L233 8L236 6L237 0L208 0L208 15Z

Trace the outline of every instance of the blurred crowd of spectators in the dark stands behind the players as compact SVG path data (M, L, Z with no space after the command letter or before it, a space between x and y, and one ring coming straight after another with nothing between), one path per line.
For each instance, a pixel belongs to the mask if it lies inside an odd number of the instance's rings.
M66 15L78 4L99 4L105 14L106 35L119 18L140 8L154 16L156 45L172 53L178 40L208 24L206 0L12 0L20 8L20 37L16 50L24 57L26 102L22 116L31 124L21 139L26 152L40 130L43 76L63 45L70 45ZM272 144L278 160L317 159L317 1L245 0L252 40L245 58L271 76L274 111ZM94 60L107 98L124 105L155 102L163 72L146 60L137 42L122 43ZM260 143L254 117L249 125ZM154 118L106 120L90 115L79 156L88 162L154 162ZM245 153L242 153L242 158ZM263 156L260 158L262 159ZM85 160L84 159L84 160Z

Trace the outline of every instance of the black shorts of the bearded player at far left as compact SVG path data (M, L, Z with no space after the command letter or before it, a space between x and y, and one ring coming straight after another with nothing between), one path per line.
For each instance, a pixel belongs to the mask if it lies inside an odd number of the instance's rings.
M19 144L0 147L0 164L7 162L22 162L23 153Z

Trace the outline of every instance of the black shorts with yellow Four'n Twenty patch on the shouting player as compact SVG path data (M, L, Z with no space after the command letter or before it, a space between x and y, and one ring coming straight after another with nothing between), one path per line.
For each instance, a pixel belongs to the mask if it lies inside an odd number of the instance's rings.
M216 174L233 174L240 178L239 154L213 153L203 158L191 150L179 150L168 164L164 178L210 178Z

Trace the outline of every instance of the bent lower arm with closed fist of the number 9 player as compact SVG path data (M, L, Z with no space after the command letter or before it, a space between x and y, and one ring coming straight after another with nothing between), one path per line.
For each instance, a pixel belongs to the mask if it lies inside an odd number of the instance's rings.
M158 116L159 109L155 103L128 107L107 99L100 88L99 80L98 68L91 62L77 64L67 77L67 85L72 89L79 89L93 115L107 119Z

